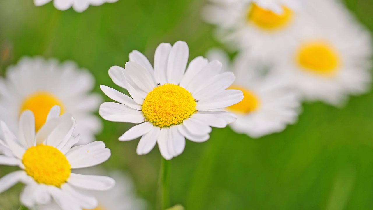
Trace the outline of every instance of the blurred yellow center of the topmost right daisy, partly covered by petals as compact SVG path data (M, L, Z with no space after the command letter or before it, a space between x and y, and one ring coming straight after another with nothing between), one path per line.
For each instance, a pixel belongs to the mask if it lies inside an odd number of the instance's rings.
M253 3L248 10L247 21L264 30L281 28L288 24L293 16L293 12L288 7L282 6L282 9L283 12L279 15Z

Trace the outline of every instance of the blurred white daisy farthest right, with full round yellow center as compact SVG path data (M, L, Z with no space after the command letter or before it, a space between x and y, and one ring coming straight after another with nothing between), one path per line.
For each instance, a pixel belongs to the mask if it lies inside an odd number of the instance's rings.
M370 34L339 1L312 0L306 6L314 22L288 43L275 67L291 77L305 100L341 106L348 95L369 89Z

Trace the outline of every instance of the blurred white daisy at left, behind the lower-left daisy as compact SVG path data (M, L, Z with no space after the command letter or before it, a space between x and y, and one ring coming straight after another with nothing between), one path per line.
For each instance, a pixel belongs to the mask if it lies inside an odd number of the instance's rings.
M101 132L102 122L92 112L98 110L101 97L90 93L94 77L88 70L79 69L72 61L62 64L56 59L24 57L10 66L6 78L0 80L0 120L18 133L19 116L25 110L35 115L38 131L46 122L49 110L58 105L62 114L74 116L74 136L82 135L79 143L95 140Z

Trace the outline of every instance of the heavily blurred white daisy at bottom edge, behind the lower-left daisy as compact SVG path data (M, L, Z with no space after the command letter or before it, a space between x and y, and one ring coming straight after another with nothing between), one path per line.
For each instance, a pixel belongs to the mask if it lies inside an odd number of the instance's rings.
M104 175L107 174L102 169L79 169L80 174ZM117 171L108 174L115 180L115 186L109 191L91 192L98 200L98 207L93 210L144 210L146 203L144 200L137 198L134 194L132 180L125 174ZM39 206L35 210L61 210L54 202Z

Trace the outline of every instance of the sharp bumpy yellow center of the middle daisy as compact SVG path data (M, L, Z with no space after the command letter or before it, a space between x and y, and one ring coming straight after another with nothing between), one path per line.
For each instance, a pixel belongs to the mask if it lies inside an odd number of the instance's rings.
M147 121L162 128L182 123L196 111L195 106L195 99L184 87L164 84L148 93L142 112Z

